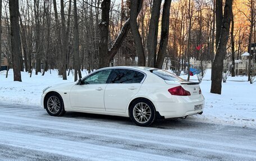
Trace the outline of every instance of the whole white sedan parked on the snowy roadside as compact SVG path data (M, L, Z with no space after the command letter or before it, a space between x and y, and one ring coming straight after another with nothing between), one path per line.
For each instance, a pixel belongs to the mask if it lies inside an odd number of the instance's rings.
M43 90L42 107L51 116L66 111L130 117L139 126L156 119L202 114L204 96L198 82L149 67L107 67L77 82Z

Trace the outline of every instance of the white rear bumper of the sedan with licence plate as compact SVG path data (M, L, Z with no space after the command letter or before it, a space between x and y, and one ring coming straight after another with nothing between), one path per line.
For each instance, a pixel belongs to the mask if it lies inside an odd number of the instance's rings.
M177 118L191 116L203 112L205 101L201 99L188 100L182 102L153 102L156 111L164 118ZM202 105L202 109L195 109L196 105Z

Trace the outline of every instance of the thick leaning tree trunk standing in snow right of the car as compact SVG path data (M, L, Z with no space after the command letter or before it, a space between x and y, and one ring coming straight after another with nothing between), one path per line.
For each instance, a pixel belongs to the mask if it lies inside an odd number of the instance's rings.
M222 2L221 0L217 0L216 4L221 2ZM216 56L214 58L214 62L212 66L211 93L221 94L223 61L226 55L228 35L230 34L229 30L230 30L231 17L232 17L232 0L226 0L223 22L221 27L220 43L218 45ZM216 20L217 19L219 19L219 17L216 16ZM219 29L216 29L216 30L219 30Z

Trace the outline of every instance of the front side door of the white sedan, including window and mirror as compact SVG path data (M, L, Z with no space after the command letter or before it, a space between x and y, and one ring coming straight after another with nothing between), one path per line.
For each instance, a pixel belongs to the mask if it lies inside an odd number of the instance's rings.
M101 70L85 77L70 91L70 104L72 108L106 111L104 107L104 91L107 86L108 77L112 70Z

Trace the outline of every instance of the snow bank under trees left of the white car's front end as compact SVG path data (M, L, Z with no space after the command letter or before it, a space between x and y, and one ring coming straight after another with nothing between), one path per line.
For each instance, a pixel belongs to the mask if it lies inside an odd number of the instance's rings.
M83 71L82 76L85 76L88 71ZM30 105L40 105L40 96L42 91L49 85L59 84L62 82L74 81L74 76L70 72L70 76L67 76L67 80L62 80L62 77L58 76L56 70L51 70L51 73L30 73L21 72L21 80L13 81L13 71L8 72L6 79L6 71L0 71L0 102L13 102Z

